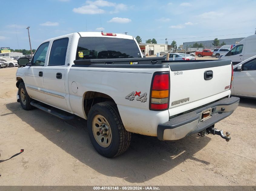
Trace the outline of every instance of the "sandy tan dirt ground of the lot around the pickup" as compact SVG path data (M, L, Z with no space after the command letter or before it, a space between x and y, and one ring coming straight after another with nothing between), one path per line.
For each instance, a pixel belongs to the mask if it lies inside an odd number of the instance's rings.
M255 185L256 100L241 98L216 124L231 132L174 142L132 135L131 146L105 158L91 145L86 121L65 122L16 102L17 68L0 69L0 185Z

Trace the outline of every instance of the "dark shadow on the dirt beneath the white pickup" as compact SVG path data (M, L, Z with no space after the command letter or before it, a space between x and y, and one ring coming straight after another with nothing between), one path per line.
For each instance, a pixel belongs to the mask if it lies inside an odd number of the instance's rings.
M210 137L199 138L193 135L175 142L163 142L156 137L133 134L128 150L110 159L102 157L94 150L84 119L65 122L38 109L22 110L20 103L8 103L6 107L35 131L85 165L103 175L123 178L130 183L150 180L187 159L209 164L196 158L194 154L208 144ZM47 154L43 145L37 149L42 149L42 153Z

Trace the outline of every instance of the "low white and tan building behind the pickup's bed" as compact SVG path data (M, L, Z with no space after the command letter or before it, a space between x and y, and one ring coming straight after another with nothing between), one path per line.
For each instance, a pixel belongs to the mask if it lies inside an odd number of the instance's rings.
M139 47L142 53L146 55L156 55L160 52L166 52L172 48L171 45L168 44L147 44L147 43L139 43Z

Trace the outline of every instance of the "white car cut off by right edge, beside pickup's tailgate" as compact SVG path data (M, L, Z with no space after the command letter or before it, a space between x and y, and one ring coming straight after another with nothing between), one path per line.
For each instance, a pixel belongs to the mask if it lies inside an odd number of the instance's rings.
M231 95L256 98L256 56L234 65Z

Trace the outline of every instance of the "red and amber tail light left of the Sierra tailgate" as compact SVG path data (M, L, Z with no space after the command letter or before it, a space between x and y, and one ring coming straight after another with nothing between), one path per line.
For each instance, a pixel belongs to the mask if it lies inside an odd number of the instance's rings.
M167 110L170 99L170 73L155 72L150 91L149 109L155 111Z

